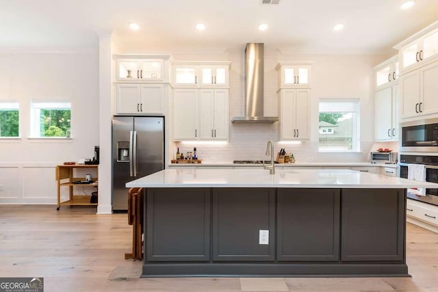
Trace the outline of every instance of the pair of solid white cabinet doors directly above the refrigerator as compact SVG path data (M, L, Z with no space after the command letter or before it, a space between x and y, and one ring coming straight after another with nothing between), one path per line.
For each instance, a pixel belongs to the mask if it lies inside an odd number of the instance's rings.
M116 84L118 114L164 114L162 84Z

